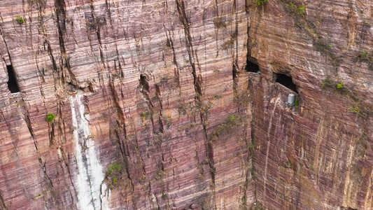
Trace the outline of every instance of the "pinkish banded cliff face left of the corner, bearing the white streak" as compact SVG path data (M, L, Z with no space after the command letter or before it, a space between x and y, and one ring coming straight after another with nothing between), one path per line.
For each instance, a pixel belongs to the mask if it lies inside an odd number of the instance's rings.
M239 103L248 83L237 76L245 1L8 1L0 9L7 209L253 202L251 106ZM19 93L8 91L6 65Z

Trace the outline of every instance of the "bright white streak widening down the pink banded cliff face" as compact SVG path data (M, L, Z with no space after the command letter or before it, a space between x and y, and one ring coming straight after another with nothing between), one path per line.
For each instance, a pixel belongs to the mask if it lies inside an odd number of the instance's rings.
M106 184L104 172L97 158L94 141L90 137L89 114L84 114L83 95L70 97L73 131L76 145L76 165L78 165L76 188L78 191L78 208L81 210L99 210L108 208L108 196L105 195ZM88 120L87 120L88 119Z

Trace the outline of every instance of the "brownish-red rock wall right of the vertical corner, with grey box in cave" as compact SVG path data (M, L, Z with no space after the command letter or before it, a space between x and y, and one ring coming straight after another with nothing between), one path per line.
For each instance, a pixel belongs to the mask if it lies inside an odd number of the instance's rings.
M255 190L268 209L372 209L370 1L253 7L249 54ZM369 37L369 38L368 38ZM299 105L276 74L293 78Z

